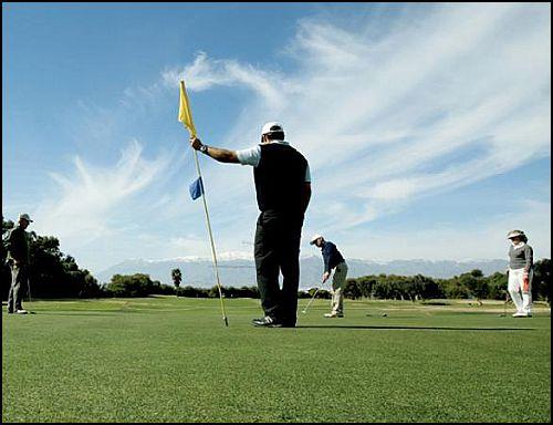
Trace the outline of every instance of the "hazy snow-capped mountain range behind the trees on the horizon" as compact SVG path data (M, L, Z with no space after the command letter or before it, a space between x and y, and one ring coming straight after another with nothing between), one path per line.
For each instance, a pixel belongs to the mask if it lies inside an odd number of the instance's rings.
M218 261L219 276L223 287L255 286L255 265L252 259L231 258ZM488 276L495 271L504 271L507 260L393 260L377 262L372 260L349 259L348 277L356 278L367 274L424 274L431 278L452 278L474 269L482 270ZM175 258L161 260L129 259L109 267L98 273L96 279L109 282L113 274L146 273L153 280L173 284L170 273L179 268L182 272L181 286L210 288L216 282L213 263L205 258ZM320 256L300 259L300 288L306 289L319 286L323 273L323 259Z

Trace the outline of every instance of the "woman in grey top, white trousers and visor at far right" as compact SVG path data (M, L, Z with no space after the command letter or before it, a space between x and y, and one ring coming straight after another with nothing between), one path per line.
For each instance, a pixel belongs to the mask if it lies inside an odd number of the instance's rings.
M509 283L511 299L517 307L513 318L532 317L532 279L534 277L533 250L522 230L507 235L509 248Z

